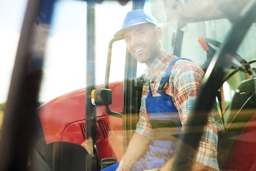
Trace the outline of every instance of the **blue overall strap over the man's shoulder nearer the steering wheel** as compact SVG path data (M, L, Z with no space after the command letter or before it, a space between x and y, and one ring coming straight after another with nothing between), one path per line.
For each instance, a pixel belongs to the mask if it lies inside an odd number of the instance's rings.
M163 92L163 87L166 85L166 83L169 81L169 78L172 74L172 66L175 64L175 62L179 59L186 59L186 58L177 58L177 59L174 59L168 66L167 70L166 70L166 73L165 73L165 76L161 79L160 81L160 85L158 87L158 90L157 90L157 93L159 93L160 95L162 96L167 96L167 94L165 92ZM189 60L191 61L190 59L186 59L186 60ZM192 61L191 61L192 62Z

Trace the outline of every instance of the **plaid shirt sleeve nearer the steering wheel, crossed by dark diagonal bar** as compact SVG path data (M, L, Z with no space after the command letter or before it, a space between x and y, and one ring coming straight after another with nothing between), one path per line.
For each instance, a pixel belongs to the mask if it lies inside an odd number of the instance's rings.
M184 130L186 121L192 112L192 106L195 102L204 73L200 68L189 61L176 62L172 70L172 78L170 79L174 79L175 104L180 115L182 130ZM217 132L218 128L214 112L211 112L199 143L196 161L218 170L215 157L218 142Z

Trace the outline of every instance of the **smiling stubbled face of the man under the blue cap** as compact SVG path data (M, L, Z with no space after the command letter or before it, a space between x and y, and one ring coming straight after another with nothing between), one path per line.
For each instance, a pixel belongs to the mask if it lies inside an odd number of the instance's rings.
M124 38L129 52L138 62L150 65L157 58L159 35L153 25L132 26L124 31Z

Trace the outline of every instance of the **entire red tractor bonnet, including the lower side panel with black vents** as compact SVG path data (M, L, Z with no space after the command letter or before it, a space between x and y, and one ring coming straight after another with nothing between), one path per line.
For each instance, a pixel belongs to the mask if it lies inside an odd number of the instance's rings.
M103 88L103 85L97 88ZM114 112L122 113L123 83L109 85L112 90ZM49 101L38 108L46 143L65 141L80 145L85 135L85 89L76 90ZM105 111L105 107L97 107L97 121L100 140L98 141L99 157L116 157L119 161L123 155L122 118L117 118ZM98 135L99 135L98 134ZM104 138L105 137L105 138Z

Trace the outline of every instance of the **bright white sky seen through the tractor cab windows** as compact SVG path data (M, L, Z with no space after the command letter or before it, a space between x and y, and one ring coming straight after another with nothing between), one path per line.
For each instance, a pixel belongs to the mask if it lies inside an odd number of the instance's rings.
M7 100L26 3L27 0L0 0L0 103ZM96 6L96 84L104 84L108 43L121 28L131 5L104 1ZM33 53L35 59L45 55L40 101L47 102L86 86L86 8L84 1L58 0L51 25L48 21L35 25L38 36L34 39L39 43L30 50L37 49ZM110 81L123 78L125 50L124 40L114 43L111 65L115 67L111 67ZM141 68L140 73L145 67Z

